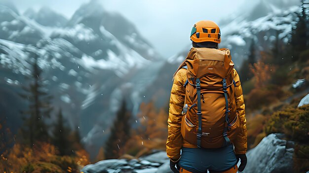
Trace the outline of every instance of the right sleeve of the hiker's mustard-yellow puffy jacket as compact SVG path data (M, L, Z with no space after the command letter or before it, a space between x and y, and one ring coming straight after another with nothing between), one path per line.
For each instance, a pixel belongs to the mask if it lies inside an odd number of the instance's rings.
M242 88L240 85L240 79L237 71L234 69L234 81L235 87L235 101L236 101L236 112L241 121L241 131L234 141L235 154L245 154L247 151L247 128L246 128L246 117L245 117L245 103L242 95Z

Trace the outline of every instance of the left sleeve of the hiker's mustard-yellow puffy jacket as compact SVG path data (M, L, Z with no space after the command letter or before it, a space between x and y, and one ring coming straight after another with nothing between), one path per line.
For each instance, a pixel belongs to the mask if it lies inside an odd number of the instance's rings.
M166 141L166 153L172 161L180 158L180 150L183 138L181 136L182 109L185 102L184 78L186 69L179 69L175 75L168 115L168 137Z

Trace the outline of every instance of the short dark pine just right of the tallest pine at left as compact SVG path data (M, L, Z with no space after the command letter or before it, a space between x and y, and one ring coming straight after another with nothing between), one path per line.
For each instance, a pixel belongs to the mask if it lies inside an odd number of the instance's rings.
M72 153L69 141L70 129L65 127L61 109L59 109L57 118L53 131L53 144L58 148L61 156L69 155Z

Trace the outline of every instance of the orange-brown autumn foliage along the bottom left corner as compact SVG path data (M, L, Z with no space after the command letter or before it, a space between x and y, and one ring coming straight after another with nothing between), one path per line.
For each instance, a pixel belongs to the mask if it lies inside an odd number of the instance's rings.
M84 150L76 156L59 156L57 148L47 142L39 142L32 148L16 143L0 157L1 173L80 173L89 164L89 155Z

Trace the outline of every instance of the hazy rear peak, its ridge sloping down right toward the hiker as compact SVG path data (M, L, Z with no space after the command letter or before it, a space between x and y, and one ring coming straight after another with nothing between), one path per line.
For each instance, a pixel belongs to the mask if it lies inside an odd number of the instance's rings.
M139 34L139 31L131 22L120 14L104 10L101 5L98 5L97 0L91 0L77 9L68 25L75 26L77 24L84 24L99 35L103 27L120 42L134 49L144 58L148 60L161 58L152 45Z

